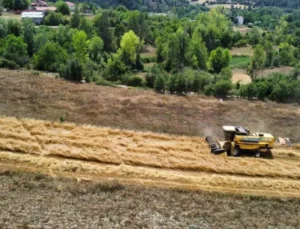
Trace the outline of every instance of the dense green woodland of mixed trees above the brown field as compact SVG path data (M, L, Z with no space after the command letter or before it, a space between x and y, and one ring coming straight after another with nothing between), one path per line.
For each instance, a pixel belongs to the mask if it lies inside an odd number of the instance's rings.
M278 8L216 8L148 14L125 6L70 15L65 3L43 25L0 17L0 67L58 72L72 81L153 88L159 93L190 92L218 97L300 101L300 13ZM176 14L177 12L177 14ZM181 17L183 14L186 17ZM251 28L234 30L243 15ZM52 27L55 26L55 27ZM232 83L234 47L253 48L244 68L252 83ZM147 54L147 47L155 53ZM145 54L146 53L146 54ZM261 78L263 69L289 66L289 75Z

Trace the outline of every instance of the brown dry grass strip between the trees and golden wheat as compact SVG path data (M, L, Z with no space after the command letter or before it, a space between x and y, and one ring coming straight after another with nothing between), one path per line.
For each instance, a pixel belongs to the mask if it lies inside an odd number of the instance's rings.
M3 69L0 90L1 115L195 136L222 136L222 125L244 125L300 141L300 109L293 104L161 95Z

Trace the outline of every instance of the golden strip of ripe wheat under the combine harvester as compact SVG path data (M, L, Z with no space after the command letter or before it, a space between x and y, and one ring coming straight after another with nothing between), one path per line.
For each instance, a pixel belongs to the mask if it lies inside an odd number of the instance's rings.
M203 138L0 118L0 169L77 179L300 197L297 148L273 160L213 155Z

